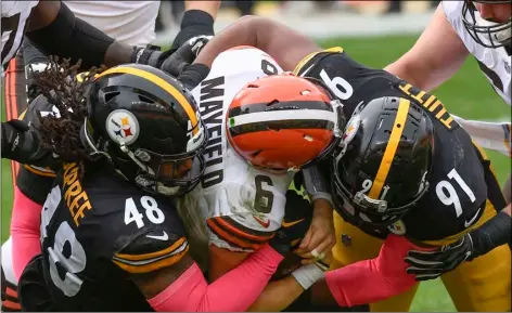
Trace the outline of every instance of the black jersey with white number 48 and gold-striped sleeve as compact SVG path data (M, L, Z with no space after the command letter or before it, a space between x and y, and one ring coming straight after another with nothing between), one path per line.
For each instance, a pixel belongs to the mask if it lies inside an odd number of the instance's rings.
M42 269L64 311L152 311L129 279L181 260L188 242L169 198L112 170L65 164L41 213Z

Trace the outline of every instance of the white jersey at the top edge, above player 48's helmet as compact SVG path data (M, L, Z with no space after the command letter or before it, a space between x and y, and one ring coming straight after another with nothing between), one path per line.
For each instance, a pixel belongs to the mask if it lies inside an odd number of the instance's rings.
M119 42L148 45L155 39L161 1L64 1L84 19Z

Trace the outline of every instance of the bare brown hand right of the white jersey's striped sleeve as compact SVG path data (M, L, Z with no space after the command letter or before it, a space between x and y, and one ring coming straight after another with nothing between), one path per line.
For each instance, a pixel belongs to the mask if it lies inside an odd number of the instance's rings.
M304 260L303 264L324 259L336 244L331 205L323 199L315 201L312 221L296 253Z

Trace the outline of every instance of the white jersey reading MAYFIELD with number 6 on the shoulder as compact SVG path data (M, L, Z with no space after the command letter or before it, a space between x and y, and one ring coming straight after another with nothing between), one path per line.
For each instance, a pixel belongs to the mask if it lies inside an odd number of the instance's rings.
M255 48L229 50L215 60L208 77L192 92L209 140L204 153L206 170L197 187L180 199L180 213L190 217L183 218L185 224L194 219L192 216L202 216L203 227L205 220L208 226L209 244L235 251L252 251L251 243L244 246L240 240L269 238L281 226L285 194L293 179L293 173L277 175L253 168L226 136L226 115L232 99L242 87L266 73L282 69L265 52ZM228 229L246 235L230 239L226 235Z

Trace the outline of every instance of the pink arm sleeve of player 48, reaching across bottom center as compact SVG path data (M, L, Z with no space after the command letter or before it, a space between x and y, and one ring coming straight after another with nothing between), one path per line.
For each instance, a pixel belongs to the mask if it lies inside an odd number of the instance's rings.
M156 312L243 312L259 297L282 259L266 246L209 286L194 263L148 302Z

